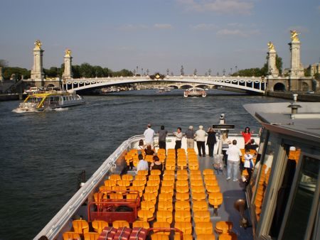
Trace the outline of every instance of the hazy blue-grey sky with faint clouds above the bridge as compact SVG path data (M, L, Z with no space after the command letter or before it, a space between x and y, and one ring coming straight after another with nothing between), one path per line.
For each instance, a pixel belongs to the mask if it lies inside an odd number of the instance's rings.
M65 49L83 62L179 75L262 67L272 41L290 66L290 30L297 30L304 67L320 61L319 0L1 0L0 59L60 67Z

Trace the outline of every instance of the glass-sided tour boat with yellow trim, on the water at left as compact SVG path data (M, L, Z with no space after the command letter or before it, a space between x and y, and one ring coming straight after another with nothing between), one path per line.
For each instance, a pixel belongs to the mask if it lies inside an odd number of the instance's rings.
M85 104L85 99L78 94L52 90L29 94L16 111L43 111L80 104Z

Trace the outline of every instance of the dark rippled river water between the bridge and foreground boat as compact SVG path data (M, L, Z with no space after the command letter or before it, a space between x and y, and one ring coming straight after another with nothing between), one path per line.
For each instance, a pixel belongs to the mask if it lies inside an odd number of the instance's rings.
M262 96L208 91L206 98L184 98L182 90L119 92L86 96L84 106L17 114L18 102L0 102L0 239L33 239L87 178L130 136L146 124L169 132L189 125L218 124L225 114L235 132L260 124L242 104L284 102Z

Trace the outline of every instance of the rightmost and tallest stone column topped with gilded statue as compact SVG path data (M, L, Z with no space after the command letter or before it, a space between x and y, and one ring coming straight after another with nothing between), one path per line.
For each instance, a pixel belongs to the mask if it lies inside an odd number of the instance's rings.
M298 38L299 33L297 31L291 31L291 43L290 46L291 53L291 66L289 70L290 78L304 77L304 67L300 62L300 40Z

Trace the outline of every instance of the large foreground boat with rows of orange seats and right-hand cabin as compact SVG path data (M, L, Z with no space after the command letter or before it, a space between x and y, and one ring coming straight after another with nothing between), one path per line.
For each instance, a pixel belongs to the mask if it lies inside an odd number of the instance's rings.
M215 168L223 133L229 131L243 151L232 125L213 126L214 158L186 148L183 137L176 159L175 137L166 138L164 151L156 136L161 178L159 171L136 173L144 136L132 136L34 239L319 239L320 103L244 107L262 126L259 136L252 135L259 147L247 185L226 180L225 169ZM246 178L246 170L240 175Z

